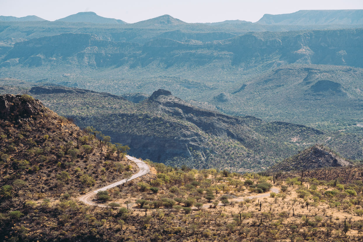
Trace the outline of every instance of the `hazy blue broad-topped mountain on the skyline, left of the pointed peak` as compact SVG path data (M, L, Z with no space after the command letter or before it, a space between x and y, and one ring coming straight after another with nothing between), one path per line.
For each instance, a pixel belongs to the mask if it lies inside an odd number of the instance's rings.
M79 12L69 15L56 21L62 22L90 22L94 24L127 24L125 21L119 19L110 19L97 15L94 12Z

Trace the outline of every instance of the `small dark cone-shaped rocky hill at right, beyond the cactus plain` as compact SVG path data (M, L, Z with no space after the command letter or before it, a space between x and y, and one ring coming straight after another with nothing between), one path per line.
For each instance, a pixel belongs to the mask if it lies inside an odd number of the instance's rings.
M325 167L344 167L348 165L351 165L351 163L333 150L323 145L314 145L299 152L297 155L277 163L269 168L268 171L309 170Z

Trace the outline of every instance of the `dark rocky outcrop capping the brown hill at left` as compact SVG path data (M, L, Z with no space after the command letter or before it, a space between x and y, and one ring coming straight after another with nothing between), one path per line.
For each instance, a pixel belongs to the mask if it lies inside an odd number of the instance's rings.
M45 112L43 104L29 95L4 94L0 96L0 118L8 121L28 119Z

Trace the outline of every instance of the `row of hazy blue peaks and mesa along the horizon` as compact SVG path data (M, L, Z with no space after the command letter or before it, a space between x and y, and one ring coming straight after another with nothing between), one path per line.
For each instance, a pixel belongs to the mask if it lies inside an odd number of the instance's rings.
M13 17L0 16L0 21L44 21L37 16ZM105 18L97 15L94 12L79 12L56 21L64 22L88 22L93 24L127 24L127 22L119 19ZM164 25L180 25L187 24L184 21L163 15L136 22L135 26L164 26ZM200 24L200 23L197 23ZM222 22L203 23L205 25L224 25L224 24L261 24L261 25L331 25L331 24L346 24L356 25L363 24L363 9L353 10L300 10L294 13L286 14L265 14L260 20L255 23L244 20L225 20Z

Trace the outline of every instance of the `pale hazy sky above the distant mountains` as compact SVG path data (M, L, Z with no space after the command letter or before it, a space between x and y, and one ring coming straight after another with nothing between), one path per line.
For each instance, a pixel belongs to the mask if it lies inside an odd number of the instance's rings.
M0 0L0 15L46 20L85 11L132 23L168 14L185 22L246 20L301 9L363 9L363 0Z

